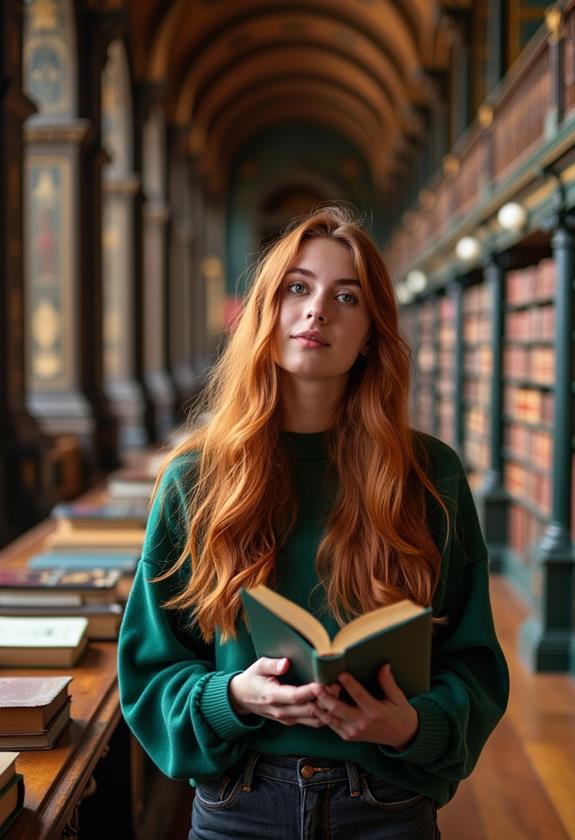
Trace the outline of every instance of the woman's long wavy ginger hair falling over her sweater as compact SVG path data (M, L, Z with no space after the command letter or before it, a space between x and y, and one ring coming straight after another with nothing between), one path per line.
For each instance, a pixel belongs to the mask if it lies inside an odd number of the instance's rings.
M216 627L222 641L235 637L240 588L273 584L278 549L297 519L273 346L282 281L310 237L350 249L372 324L369 355L354 363L326 432L338 477L316 557L327 606L343 624L405 597L430 605L437 585L441 555L426 515L429 495L447 522L448 515L409 424L410 351L390 276L354 215L322 207L295 220L260 259L207 386L209 422L170 454L156 483L172 460L194 451L185 546L156 579L190 562L185 586L164 606L190 610L206 641Z

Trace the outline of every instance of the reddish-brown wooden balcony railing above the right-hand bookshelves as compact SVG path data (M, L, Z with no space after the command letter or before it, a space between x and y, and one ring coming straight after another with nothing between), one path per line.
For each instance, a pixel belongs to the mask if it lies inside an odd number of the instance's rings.
M404 214L386 252L396 276L417 265L424 251L433 250L475 208L484 204L486 213L493 213L489 196L574 113L575 0L569 0L559 40L543 29L534 36L455 144L443 172Z

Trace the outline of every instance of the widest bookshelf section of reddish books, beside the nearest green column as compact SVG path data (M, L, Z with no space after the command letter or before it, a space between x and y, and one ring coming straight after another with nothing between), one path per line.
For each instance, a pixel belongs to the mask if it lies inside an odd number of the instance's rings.
M503 349L504 486L508 547L525 578L551 513L555 263L507 274ZM523 574L521 574L523 570ZM526 578L525 578L526 580Z

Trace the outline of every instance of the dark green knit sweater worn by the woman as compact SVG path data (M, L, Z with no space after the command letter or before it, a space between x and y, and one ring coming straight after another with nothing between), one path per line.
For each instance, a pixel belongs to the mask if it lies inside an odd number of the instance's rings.
M292 455L300 507L296 526L278 551L277 588L312 609L333 634L335 622L318 612L319 600L309 597L317 583L316 550L334 498L325 436L283 434ZM255 715L235 714L229 681L256 658L244 622L238 622L235 640L221 644L216 633L215 642L206 644L186 627L187 616L162 608L177 581L150 582L174 562L185 536L194 456L182 456L170 465L150 513L119 640L124 717L166 775L194 782L221 773L254 750L352 760L440 805L453 796L505 710L509 683L489 603L487 550L463 466L446 444L429 435L422 439L431 455L430 475L454 526L433 604L434 613L449 620L435 631L431 689L410 700L419 715L419 729L403 752L343 741L328 727L286 727ZM444 526L440 517L433 521L434 538L441 547Z

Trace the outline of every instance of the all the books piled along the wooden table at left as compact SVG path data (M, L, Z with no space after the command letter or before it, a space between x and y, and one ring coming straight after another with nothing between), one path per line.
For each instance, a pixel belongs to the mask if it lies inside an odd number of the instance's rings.
M0 835L23 808L19 752L53 748L70 723L65 672L91 640L118 636L158 466L152 457L113 473L98 504L58 505L40 553L23 568L0 567L0 666L59 669L0 677Z

